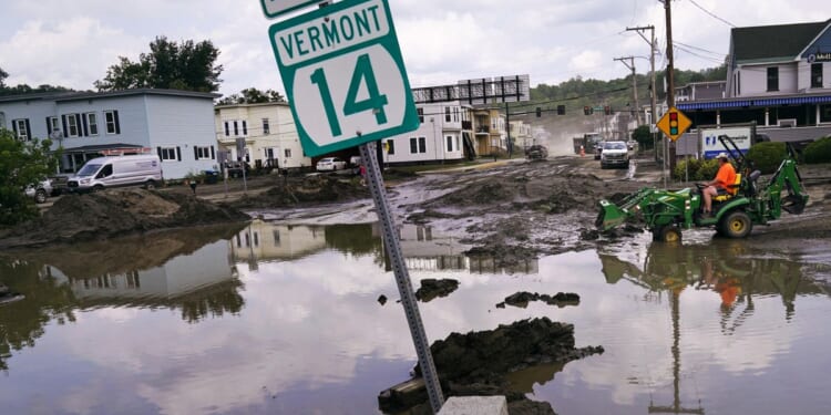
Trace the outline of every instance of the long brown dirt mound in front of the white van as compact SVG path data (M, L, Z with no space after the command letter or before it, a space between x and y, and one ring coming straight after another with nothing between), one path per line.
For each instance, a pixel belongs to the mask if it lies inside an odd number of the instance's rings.
M112 189L61 197L43 216L0 235L0 246L106 239L135 231L247 220L233 208L189 195Z

